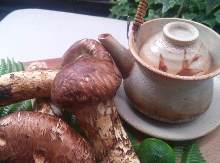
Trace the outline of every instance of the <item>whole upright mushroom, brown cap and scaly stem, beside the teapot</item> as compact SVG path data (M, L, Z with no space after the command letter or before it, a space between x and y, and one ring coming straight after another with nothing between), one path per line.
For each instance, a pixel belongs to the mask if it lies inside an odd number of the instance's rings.
M95 40L75 43L56 75L52 101L76 115L101 162L139 162L121 124L114 96L121 74L110 54Z

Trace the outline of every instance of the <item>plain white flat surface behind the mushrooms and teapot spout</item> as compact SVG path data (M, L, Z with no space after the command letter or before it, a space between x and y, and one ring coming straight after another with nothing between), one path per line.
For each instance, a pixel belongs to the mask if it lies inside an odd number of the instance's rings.
M33 61L61 57L76 41L111 33L127 45L127 22L42 9L21 9L0 22L0 58Z

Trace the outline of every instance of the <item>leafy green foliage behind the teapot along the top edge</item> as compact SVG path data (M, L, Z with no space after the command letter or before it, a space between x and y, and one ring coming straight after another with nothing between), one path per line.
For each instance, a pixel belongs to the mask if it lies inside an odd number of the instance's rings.
M140 0L113 0L111 16L134 18ZM194 20L211 28L220 28L220 0L148 0L145 19L179 17Z

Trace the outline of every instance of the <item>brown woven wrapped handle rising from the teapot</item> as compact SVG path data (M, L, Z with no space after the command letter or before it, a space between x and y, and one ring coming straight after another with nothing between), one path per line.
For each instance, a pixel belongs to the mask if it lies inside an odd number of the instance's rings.
M144 16L146 15L147 8L148 8L147 0L140 0L134 19L134 24L132 27L132 30L134 32L136 32L141 26L141 24L144 23Z

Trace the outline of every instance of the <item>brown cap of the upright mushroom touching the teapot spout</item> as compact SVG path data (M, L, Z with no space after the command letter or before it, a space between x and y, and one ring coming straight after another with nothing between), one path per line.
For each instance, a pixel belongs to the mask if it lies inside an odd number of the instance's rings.
M95 40L78 41L64 55L63 64L51 89L52 101L61 107L105 102L121 83L110 54Z

